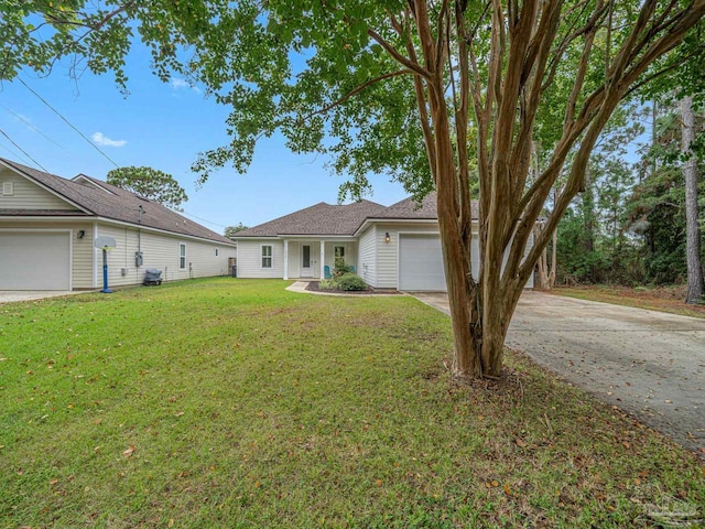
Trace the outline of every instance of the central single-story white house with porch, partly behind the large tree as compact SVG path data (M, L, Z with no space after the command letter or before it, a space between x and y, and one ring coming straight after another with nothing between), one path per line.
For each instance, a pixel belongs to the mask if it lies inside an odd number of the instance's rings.
M341 263L377 289L446 290L435 194L422 204L406 198L389 207L321 203L240 231L234 240L240 278L316 279ZM533 238L527 250L532 245ZM475 226L474 274L478 258ZM533 288L533 277L527 288Z

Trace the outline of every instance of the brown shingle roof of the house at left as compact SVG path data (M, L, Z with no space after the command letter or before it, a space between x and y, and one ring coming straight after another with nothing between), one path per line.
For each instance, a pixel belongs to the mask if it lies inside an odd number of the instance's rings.
M129 191L110 185L107 182L84 174L77 176L78 180L86 179L96 184L88 185L87 183L79 183L62 179L55 174L37 171L2 158L0 158L0 162L70 204L74 204L78 209L77 212L0 209L0 215L2 216L66 216L73 214L86 217L88 215L227 245L234 244L232 240L227 237L183 217L158 202L141 197Z

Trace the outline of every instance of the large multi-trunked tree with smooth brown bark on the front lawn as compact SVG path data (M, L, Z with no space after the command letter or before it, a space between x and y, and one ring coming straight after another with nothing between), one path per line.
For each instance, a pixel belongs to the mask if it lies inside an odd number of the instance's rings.
M257 140L279 131L295 152L327 153L349 179L344 194L365 194L366 175L380 172L416 197L435 188L457 379L500 375L519 296L584 185L600 132L620 101L676 67L672 52L698 35L705 11L705 0L2 6L6 79L22 66L46 72L70 54L73 65L86 57L124 85L126 53L139 36L162 78L183 75L231 106L229 143L194 163L203 181L229 163L245 172ZM547 162L529 179L534 136ZM524 259L564 165L565 184Z

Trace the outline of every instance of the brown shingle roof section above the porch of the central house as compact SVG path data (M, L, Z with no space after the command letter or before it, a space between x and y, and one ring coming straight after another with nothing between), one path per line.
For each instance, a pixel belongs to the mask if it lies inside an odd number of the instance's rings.
M367 217L384 206L370 201L332 205L322 202L269 223L239 231L238 237L278 237L282 235L352 235Z

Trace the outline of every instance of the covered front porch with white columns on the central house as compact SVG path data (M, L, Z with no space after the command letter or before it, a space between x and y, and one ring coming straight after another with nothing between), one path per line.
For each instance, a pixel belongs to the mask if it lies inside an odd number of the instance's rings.
M357 253L352 237L284 238L284 279L325 279L326 271L333 273L336 264L357 270Z

